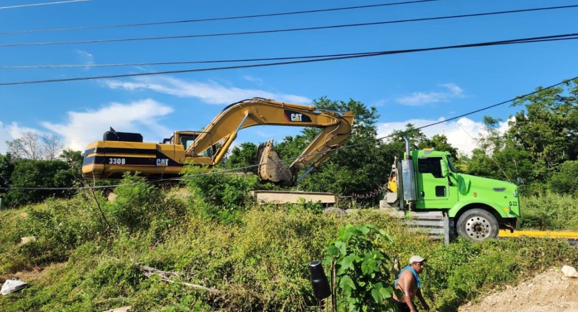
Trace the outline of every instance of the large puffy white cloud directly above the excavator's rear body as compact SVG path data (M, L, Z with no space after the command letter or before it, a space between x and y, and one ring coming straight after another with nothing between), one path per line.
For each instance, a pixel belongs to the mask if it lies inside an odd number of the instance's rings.
M140 132L143 136L151 136L150 139L160 140L158 133L170 133L171 130L158 124L157 119L172 112L172 107L145 99L127 104L110 103L95 111L68 112L65 123L45 121L42 125L62 136L69 148L84 150L88 143L101 140L102 133L109 127L122 132Z

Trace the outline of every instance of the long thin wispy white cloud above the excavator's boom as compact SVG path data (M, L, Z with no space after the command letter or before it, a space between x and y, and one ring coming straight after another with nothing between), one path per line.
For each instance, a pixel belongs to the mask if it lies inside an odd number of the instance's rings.
M281 102L310 103L311 99L301 95L277 94L258 89L242 89L225 87L209 81L203 83L194 80L176 79L173 77L139 77L134 81L106 80L110 88L125 90L153 90L164 94L179 96L180 98L198 98L209 104L223 105L241 101L243 99L261 98L275 99Z

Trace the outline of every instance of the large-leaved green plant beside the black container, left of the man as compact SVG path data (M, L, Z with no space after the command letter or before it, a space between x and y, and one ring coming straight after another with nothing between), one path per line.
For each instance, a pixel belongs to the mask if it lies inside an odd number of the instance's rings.
M336 283L343 296L338 296L349 311L393 311L390 298L394 293L390 258L377 249L380 240L391 242L383 229L371 224L339 228L338 239L327 247L323 261L335 261Z

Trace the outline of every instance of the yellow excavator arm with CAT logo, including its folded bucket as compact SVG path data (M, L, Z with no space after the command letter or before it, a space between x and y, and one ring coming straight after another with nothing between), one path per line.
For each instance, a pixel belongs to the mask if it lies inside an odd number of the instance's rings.
M254 125L283 125L321 128L316 138L302 151L287 169L272 149L272 142L260 147L258 170L261 179L277 184L291 185L299 170L312 165L306 173L323 162L336 148L343 146L351 134L353 113L316 109L298 105L253 98L233 103L223 109L185 151L187 157L197 157L221 142L213 156L213 165L223 159L240 129Z

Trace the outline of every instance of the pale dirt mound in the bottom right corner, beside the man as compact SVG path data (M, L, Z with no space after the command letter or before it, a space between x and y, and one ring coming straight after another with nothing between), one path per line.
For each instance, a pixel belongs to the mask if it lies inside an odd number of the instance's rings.
M475 304L465 304L459 311L578 312L578 278L564 277L559 268L550 269Z

